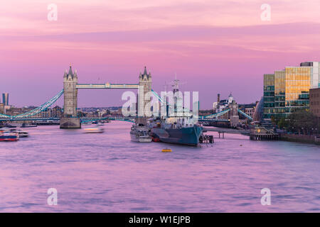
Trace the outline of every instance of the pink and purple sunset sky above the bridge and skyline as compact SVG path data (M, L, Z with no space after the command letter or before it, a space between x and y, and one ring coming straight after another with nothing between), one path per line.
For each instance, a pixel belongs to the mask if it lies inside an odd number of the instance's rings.
M47 19L51 3L58 21ZM262 4L271 21L260 19ZM250 103L264 73L320 61L319 11L319 0L1 0L0 92L39 105L63 88L70 64L80 83L137 83L146 65L154 90L176 73L183 90L199 91L201 109L217 93ZM79 106L119 106L121 94L81 90Z

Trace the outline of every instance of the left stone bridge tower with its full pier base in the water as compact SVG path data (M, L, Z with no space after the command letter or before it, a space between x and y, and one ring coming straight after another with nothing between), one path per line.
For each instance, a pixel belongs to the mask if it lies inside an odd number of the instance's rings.
M78 118L78 74L73 72L70 66L69 72L65 70L63 75L64 105L63 117L60 118L60 128L81 128L80 118Z

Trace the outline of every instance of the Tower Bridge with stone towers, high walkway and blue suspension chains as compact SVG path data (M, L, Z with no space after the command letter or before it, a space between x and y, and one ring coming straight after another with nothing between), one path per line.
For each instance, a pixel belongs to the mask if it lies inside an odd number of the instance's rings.
M63 75L63 90L61 90L57 95L53 96L45 104L38 106L36 109L28 111L23 114L18 114L16 116L9 116L6 114L0 114L1 121L34 121L34 120L56 120L55 118L37 118L36 114L46 111L48 107L57 101L60 96L63 95L63 116L60 118L60 128L81 128L81 122L87 121L87 119L78 117L78 90L79 89L138 89L138 116L147 116L146 110L151 109L151 96L153 94L162 102L161 97L156 94L156 92L151 89L152 80L151 73L146 72L146 67L144 67L144 72L139 74L139 82L137 84L111 84L107 82L105 84L80 84L78 83L78 72L73 71L70 66L69 70L66 70ZM229 119L221 119L219 116L229 112ZM230 104L229 109L220 111L216 114L210 114L208 116L199 116L198 121L200 122L212 122L212 121L230 121L230 124L236 124L239 121L239 114L244 115L246 118L252 121L250 116L243 113L238 109L238 104L233 102ZM139 121L142 121L139 118ZM110 120L119 121L134 121L133 118L110 118Z

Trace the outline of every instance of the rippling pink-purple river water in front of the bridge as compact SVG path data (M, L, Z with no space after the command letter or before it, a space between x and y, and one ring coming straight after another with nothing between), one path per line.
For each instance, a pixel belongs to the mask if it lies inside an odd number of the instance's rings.
M202 148L134 143L130 126L106 123L100 134L38 126L0 143L0 212L320 211L317 145L217 133ZM263 188L270 206L260 202Z

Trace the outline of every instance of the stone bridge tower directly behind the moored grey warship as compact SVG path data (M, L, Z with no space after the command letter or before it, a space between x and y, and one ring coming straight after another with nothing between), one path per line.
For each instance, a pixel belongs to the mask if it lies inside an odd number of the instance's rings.
M138 94L138 116L139 118L144 118L151 116L151 73L146 72L146 67L144 67L144 73L139 74L139 94Z

